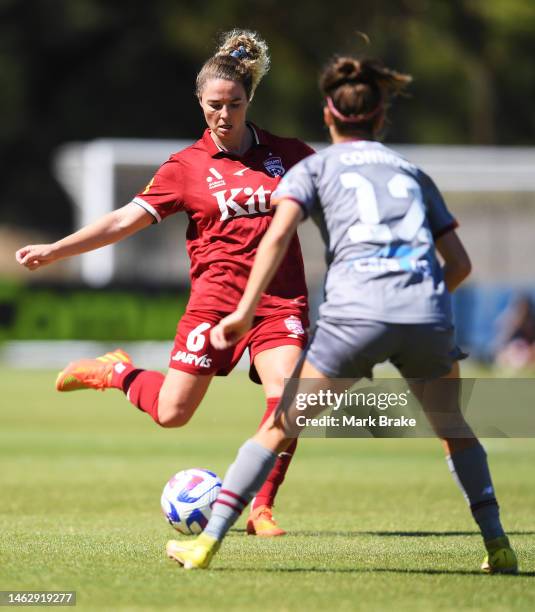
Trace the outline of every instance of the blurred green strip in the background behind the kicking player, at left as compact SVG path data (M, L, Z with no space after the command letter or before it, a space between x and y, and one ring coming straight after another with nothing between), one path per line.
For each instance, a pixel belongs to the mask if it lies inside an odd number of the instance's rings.
M169 340L185 310L179 290L0 283L1 340Z

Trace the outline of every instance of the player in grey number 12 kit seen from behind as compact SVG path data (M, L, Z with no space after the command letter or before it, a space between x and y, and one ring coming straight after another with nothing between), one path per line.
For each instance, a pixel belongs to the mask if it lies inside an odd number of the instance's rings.
M376 141L386 104L409 82L408 75L376 60L338 57L326 67L320 87L333 144L298 163L281 181L272 198L277 212L243 298L212 330L211 340L224 349L246 333L291 236L312 216L327 246L329 268L317 330L294 373L302 380L300 389L310 391L311 379L328 388L335 379L370 377L375 364L390 360L443 441L450 470L484 538L482 569L514 573L517 560L500 523L486 454L458 404L459 351L450 293L469 274L470 260L433 181ZM437 381L441 377L450 377L451 384ZM439 401L445 421L436 413ZM290 443L295 405L289 404L284 410L279 406L278 416L241 447L204 533L194 541L171 540L169 557L185 568L208 566L277 453ZM314 416L318 410L309 406L301 414Z

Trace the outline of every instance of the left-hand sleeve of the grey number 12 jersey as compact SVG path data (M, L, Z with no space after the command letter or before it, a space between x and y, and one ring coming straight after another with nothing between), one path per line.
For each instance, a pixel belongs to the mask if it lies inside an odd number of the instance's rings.
M293 200L301 206L305 217L308 217L318 205L319 161L318 155L312 155L291 168L273 192L271 204L276 206L281 200Z

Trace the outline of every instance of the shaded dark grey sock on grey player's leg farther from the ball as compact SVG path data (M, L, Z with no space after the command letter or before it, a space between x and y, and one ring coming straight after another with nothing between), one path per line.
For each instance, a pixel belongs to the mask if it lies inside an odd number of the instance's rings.
M494 495L487 454L475 444L446 457L450 472L459 485L485 540L505 535L500 523L500 511Z

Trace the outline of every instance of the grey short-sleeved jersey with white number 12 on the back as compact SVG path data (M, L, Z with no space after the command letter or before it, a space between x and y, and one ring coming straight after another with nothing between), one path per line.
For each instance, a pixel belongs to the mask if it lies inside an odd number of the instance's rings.
M295 165L272 200L284 197L325 241L322 318L451 324L434 238L456 223L419 168L378 142L339 143Z

